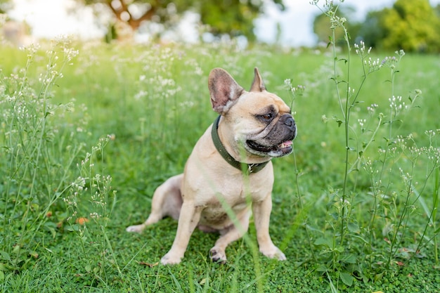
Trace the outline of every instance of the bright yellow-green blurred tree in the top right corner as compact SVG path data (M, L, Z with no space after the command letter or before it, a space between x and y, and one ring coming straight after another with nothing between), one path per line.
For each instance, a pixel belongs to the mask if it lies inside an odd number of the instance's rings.
M394 50L438 52L440 18L429 0L397 0L383 15L382 46Z

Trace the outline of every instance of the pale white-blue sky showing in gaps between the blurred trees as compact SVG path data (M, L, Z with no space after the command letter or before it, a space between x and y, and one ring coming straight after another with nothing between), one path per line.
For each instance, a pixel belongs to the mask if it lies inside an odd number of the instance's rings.
M335 0L337 3L338 0ZM67 9L75 7L75 0L13 0L15 8L9 13L15 20L26 20L32 27L36 38L53 38L60 34L77 34L82 39L100 38L103 31L93 21L91 8L81 13L81 19ZM440 4L440 0L430 0L432 5ZM316 37L313 34L313 19L321 13L310 0L284 0L287 7L280 12L274 4L266 5L266 12L255 21L255 32L260 41L273 42L276 38L277 22L282 28L281 42L288 46L313 46ZM325 0L319 1L320 4ZM394 0L345 0L342 6L356 9L354 17L362 20L372 10L380 10L392 6ZM187 15L186 22L179 27L179 35L186 36L187 41L195 41L196 29L194 15Z

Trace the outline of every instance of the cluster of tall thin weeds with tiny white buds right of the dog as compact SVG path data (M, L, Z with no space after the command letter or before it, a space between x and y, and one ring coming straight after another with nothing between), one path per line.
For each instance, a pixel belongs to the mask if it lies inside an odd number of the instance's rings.
M318 6L318 0L311 1L311 4ZM417 148L411 134L405 138L396 135L403 126L402 114L417 107L415 100L421 94L421 91L416 90L413 96L408 97L410 100L408 105L402 101L401 96L395 96L396 74L399 72L397 65L405 53L396 51L396 56L386 57L382 62L379 59L373 60L368 57L371 48L365 50L363 41L360 44L354 44L353 47L351 46L347 24L345 23L346 19L339 17L339 13L337 13L339 5L335 5L333 1L325 1L324 8L319 6L318 8L330 18L331 36L329 46L331 46L333 58L332 77L330 79L335 86L335 95L342 114L342 118L335 117L335 121L339 127L343 126L344 171L342 173L341 188L329 188L332 198L331 206L336 209L336 212L331 214L334 221L329 220L326 222L332 229L332 240L322 237L318 238L314 244L323 246L324 249L321 254L330 256L326 265L318 266L318 271L327 273L329 270L336 271L338 280L342 280L345 285L351 285L353 282L351 274L357 271L358 274L363 275L363 271L361 265L354 265L354 263L359 263L356 260L358 256L347 254L349 252L347 241L353 243L354 240L361 240L363 242L365 250L368 252L366 258L369 260L370 269L373 268L375 257L384 259L384 264L387 267L391 266L394 259L400 257L402 251L405 251L402 246L408 238L410 216L416 209L416 202L423 202L422 191L420 191L420 195L414 197L415 188L413 185L416 184L414 177L417 175L416 170L418 164L420 164L418 159L421 155L426 154L429 164L432 164L431 171L427 170L425 176L423 184L423 189L425 189L433 171L439 168L439 151L432 150L431 146L429 150L427 148ZM341 38L344 39L342 51L340 51L337 44L337 30L340 33L339 35L342 35ZM361 69L363 71L358 89L354 89L351 85L351 51L353 48L356 55L361 58ZM346 56L339 58L337 55L340 52L346 53ZM343 68L343 76L342 73L339 73L341 67ZM359 104L362 102L358 98L361 91L363 91L368 76L382 67L389 67L390 69L390 77L387 82L391 87L392 98L389 98L388 115L380 112L377 116L377 122L373 124L368 119L367 123L367 119L362 119L361 115L363 113L359 108ZM370 118L373 117L378 107L377 104L372 104L367 108ZM354 109L356 109L356 112L354 112ZM353 116L361 116L358 119L358 124L351 121ZM360 133L358 132L359 128ZM377 136L380 135L384 136L384 145L377 141ZM363 139L361 143L359 142L360 138ZM410 144L409 147L406 145L406 141ZM374 159L368 157L371 154L369 149L372 146L377 147L379 151L378 157ZM373 195L373 208L370 210L367 221L363 221L362 216L356 213L356 208L362 209L360 202L365 202L365 190L358 187L359 182L364 183L362 169L370 177L368 180L370 191L367 193ZM394 172L396 169L399 169L400 178ZM409 171L403 171L404 169L409 169ZM401 179L401 182L394 181L396 179ZM436 181L432 196L433 208L430 211L427 208L425 209L430 221L435 219L438 188L438 182ZM386 255L375 254L373 247L375 235L377 235L378 221L382 221L380 225L385 226L385 228L382 228L382 234L389 244ZM360 226L360 223L364 223L365 226ZM425 228L426 231L427 228ZM363 232L365 234L362 234ZM425 232L422 239L425 237ZM434 228L434 235L436 233L438 231ZM422 240L419 242L419 247L421 244ZM434 241L434 246L436 247L436 241ZM434 253L434 256L436 257L436 253ZM379 261L379 263L382 263L382 261Z

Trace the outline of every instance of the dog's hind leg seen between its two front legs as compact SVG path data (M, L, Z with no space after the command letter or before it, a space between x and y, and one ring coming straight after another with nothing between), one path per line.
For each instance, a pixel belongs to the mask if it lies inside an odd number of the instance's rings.
M240 239L247 232L249 228L250 211L247 211L240 219L238 219L239 226L231 225L225 230L220 231L221 236L215 242L214 247L209 250L209 257L212 261L217 263L226 263L226 247L229 243Z

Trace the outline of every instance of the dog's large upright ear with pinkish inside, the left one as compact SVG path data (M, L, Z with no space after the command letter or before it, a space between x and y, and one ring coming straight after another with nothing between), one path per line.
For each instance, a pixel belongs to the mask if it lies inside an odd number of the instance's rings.
M222 115L228 112L243 91L243 88L235 82L231 74L221 68L211 70L208 87L212 109Z

